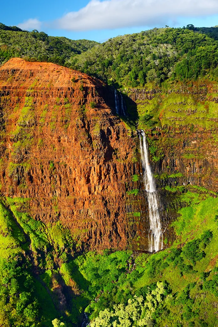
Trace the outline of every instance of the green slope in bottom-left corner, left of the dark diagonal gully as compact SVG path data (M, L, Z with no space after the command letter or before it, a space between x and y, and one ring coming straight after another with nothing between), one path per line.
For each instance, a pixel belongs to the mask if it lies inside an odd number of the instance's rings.
M28 237L2 202L0 229L0 324L50 326L58 313L46 289L33 275ZM45 301L47 307L43 305Z

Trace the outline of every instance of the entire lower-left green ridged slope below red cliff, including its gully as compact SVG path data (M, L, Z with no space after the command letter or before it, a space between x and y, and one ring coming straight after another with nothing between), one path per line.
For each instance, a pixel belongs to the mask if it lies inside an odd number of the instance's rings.
M0 324L52 327L52 320L60 316L57 258L60 264L72 258L75 243L59 222L45 226L32 219L29 202L0 202Z

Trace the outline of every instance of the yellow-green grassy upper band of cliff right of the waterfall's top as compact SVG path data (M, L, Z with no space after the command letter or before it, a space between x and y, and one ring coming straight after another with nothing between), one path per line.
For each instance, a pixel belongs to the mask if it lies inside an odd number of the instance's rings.
M147 84L147 92L151 92L151 84ZM160 126L198 126L199 128L217 129L218 96L215 81L201 79L185 84L177 81L165 82L164 87L157 89L152 99L136 100L137 116L132 108L128 108L129 115L139 128ZM214 92L209 92L209 88ZM181 88L184 91L181 91ZM140 90L139 90L140 91ZM172 91L172 92L171 92ZM126 90L129 94L131 91ZM203 94L203 95L202 95ZM126 97L126 102L129 99Z

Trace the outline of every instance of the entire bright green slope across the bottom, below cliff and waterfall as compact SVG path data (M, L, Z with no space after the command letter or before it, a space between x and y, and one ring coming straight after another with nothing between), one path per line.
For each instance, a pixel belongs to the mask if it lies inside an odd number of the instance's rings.
M1 202L3 326L52 326L55 318L78 326L84 310L92 326L119 325L119 319L121 326L218 325L218 198L184 188L175 201L183 207L172 224L176 241L164 238L167 250L72 251L65 257L63 249L73 247L66 230L29 217L28 199ZM67 299L62 307L57 285Z

